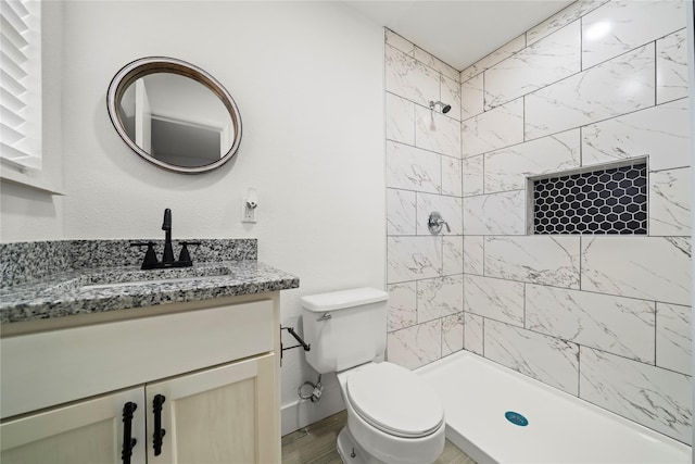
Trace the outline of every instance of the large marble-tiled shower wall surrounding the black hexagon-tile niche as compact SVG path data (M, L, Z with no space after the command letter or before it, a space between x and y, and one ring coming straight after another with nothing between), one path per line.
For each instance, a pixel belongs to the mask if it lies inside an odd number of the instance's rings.
M464 348L690 443L683 8L579 1L462 72ZM528 235L529 177L636 158L647 236Z

